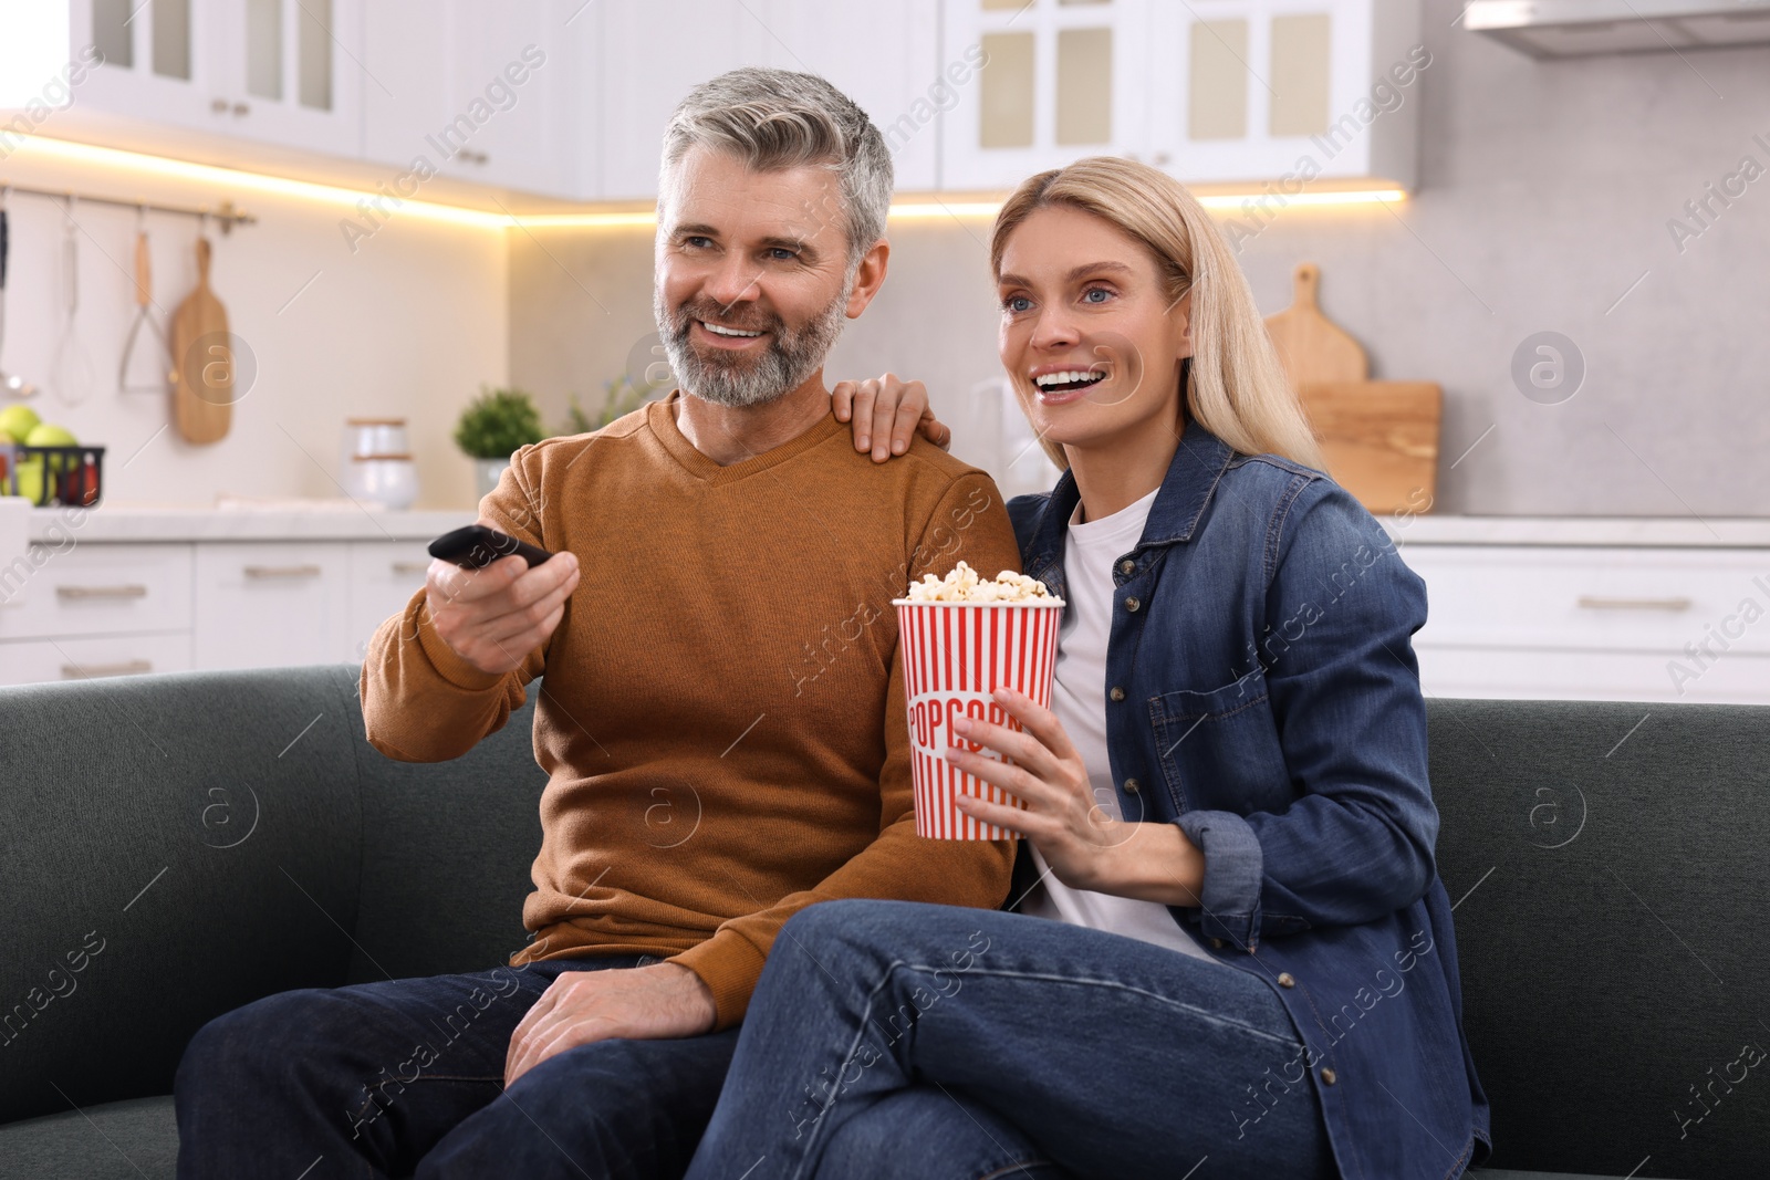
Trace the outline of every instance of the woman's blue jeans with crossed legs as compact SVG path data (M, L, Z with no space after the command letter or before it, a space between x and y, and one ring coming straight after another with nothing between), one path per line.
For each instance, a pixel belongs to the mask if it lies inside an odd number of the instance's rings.
M1046 918L834 900L775 939L689 1180L1336 1176L1237 968Z

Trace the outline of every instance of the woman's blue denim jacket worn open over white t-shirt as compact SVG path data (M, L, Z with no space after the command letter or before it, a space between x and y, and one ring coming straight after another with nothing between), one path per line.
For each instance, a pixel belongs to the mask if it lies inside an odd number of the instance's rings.
M1057 594L1076 501L1064 472L1007 506L1025 571ZM1232 1111L1175 1118L1258 1134L1308 1077L1349 1180L1460 1176L1489 1155L1489 1111L1432 860L1409 639L1427 619L1425 584L1324 474L1237 455L1195 421L1113 582L1119 807L1177 823L1204 851L1202 908L1172 913L1216 959L1266 980L1306 1046L1250 1079ZM1023 847L1012 897L1028 870Z

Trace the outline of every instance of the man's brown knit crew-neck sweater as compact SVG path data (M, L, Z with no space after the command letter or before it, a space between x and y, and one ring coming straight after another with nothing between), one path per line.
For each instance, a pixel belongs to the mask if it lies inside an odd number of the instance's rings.
M481 502L506 533L579 556L552 639L515 672L481 672L419 591L370 644L363 713L382 754L451 759L545 672L535 941L512 966L669 955L729 1028L802 906L1002 904L1009 842L915 835L890 600L959 559L1020 570L1020 552L989 476L920 437L876 465L832 414L720 467L671 402L522 448Z

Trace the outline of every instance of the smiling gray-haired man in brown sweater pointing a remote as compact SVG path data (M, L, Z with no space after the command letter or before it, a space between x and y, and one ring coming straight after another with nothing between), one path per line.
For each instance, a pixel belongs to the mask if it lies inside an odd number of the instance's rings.
M889 600L1020 568L1007 513L922 439L874 465L823 387L889 202L880 133L820 78L736 71L676 110L655 311L680 389L517 451L481 522L558 556L432 564L363 663L368 738L404 761L464 754L545 674L535 938L211 1021L181 1176L680 1175L788 916L1004 900L1007 844L913 833Z

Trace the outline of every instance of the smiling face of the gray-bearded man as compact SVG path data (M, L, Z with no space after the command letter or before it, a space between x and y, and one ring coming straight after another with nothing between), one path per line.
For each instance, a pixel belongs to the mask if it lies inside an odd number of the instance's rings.
M704 147L681 157L658 223L653 311L683 391L761 405L823 368L843 318L866 306L841 211L830 168L752 172Z

